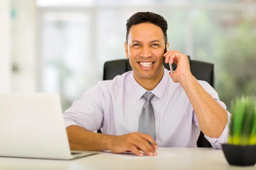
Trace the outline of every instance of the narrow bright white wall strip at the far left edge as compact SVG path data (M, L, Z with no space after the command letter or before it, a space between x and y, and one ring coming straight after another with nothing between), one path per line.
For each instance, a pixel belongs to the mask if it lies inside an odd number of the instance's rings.
M0 0L0 93L10 87L10 1Z

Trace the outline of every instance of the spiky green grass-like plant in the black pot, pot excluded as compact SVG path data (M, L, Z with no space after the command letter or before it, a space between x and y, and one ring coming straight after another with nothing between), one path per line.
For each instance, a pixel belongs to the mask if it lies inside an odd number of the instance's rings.
M256 144L256 100L249 96L236 97L231 102L229 144Z

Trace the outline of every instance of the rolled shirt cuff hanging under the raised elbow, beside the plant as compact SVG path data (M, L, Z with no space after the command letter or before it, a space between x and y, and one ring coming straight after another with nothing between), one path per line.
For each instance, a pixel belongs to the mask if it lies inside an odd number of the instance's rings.
M225 126L221 136L218 138L211 138L207 135L204 135L205 138L212 144L212 147L221 149L221 144L227 143L229 135L229 124L230 124L231 114L227 111L227 125Z

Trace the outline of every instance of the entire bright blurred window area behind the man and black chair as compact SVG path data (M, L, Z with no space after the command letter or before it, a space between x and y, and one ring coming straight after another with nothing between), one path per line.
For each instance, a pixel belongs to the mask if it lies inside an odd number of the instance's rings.
M61 94L64 110L124 59L126 20L163 15L170 49L215 64L215 89L229 107L256 94L256 0L36 0L41 24L41 91Z

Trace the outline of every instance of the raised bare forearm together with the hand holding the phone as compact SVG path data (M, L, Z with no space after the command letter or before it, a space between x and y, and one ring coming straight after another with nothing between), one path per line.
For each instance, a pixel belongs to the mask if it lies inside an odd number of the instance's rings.
M181 54L179 51L167 51L164 57L166 57L166 63L176 63L177 69L170 76L174 82L179 82L185 90L198 117L202 132L212 138L220 137L224 129L227 129L225 128L228 121L227 111L192 76L189 59L185 54ZM227 133L226 131L225 133ZM227 134L223 135L227 136Z

